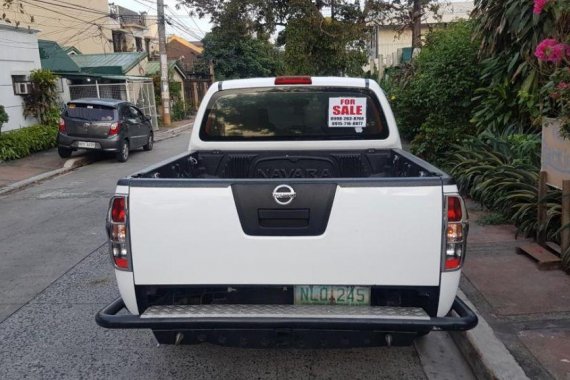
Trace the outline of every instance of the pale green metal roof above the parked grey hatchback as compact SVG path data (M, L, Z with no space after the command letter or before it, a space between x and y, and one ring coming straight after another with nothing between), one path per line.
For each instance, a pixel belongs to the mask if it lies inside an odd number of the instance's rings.
M146 57L145 52L78 54L71 59L86 73L123 75Z

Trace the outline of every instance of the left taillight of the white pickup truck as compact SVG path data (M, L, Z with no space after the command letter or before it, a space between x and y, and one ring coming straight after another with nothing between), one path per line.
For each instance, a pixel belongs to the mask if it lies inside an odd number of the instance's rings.
M114 196L111 198L107 214L107 234L111 258L117 269L129 270L129 236L127 230L128 198Z

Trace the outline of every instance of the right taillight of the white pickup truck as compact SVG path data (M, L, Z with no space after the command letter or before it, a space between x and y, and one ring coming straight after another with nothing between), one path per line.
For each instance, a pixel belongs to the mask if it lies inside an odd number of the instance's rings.
M467 213L459 195L445 196L445 236L443 245L443 270L461 268L467 242Z

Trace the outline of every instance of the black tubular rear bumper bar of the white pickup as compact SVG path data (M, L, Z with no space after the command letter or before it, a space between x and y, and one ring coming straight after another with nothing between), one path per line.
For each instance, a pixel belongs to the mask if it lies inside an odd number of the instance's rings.
M303 317L204 317L204 318L141 318L138 315L119 314L125 309L117 298L99 311L95 317L101 327L112 329L200 330L200 329L303 329L429 332L431 330L469 330L477 325L477 315L459 297L455 298L446 317L424 320L386 318L303 318Z

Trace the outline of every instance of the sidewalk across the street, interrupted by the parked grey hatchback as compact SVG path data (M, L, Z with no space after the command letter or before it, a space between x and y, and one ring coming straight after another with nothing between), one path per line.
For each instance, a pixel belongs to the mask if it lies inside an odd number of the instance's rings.
M175 121L170 127L156 131L155 141L178 136L191 129L193 123L193 118ZM74 152L70 159L63 159L57 149L50 149L19 160L0 162L0 194L88 165L97 158L95 153Z

